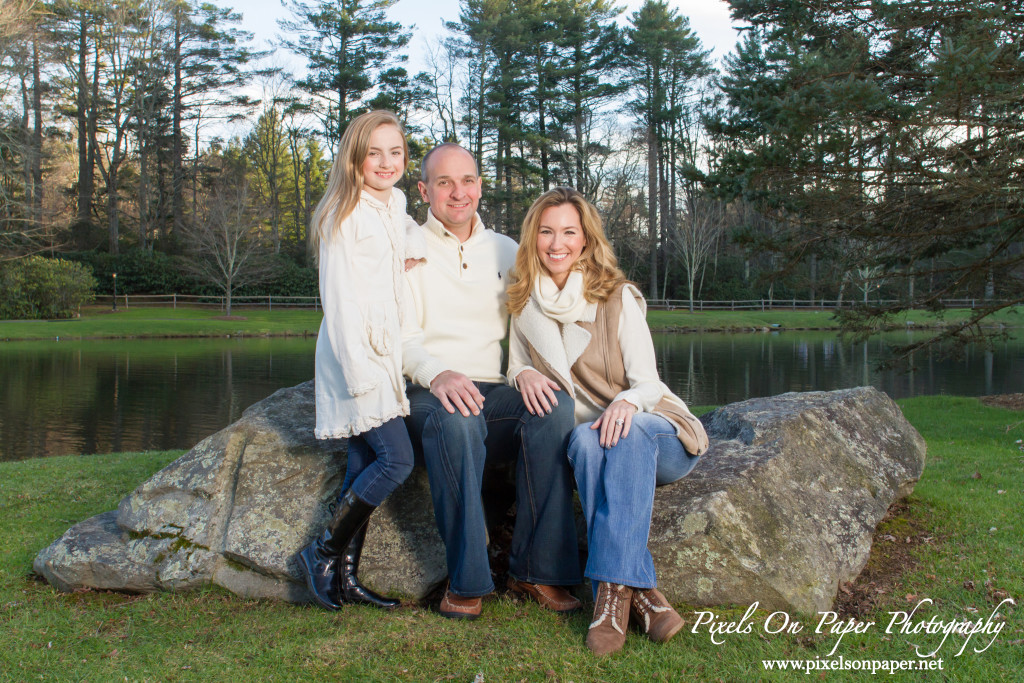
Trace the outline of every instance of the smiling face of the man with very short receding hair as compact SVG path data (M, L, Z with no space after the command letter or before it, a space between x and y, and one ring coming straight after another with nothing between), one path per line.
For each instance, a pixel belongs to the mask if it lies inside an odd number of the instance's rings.
M480 205L480 176L473 157L465 150L445 147L428 161L427 181L419 183L423 201L444 227L468 234Z

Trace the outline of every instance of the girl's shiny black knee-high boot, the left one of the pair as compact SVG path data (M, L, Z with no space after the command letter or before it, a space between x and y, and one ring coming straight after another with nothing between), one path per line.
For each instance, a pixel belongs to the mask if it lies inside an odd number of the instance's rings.
M341 602L347 602L344 592L336 588L341 559L347 555L352 540L360 536L360 529L366 527L375 509L376 506L356 498L351 489L345 492L338 499L327 528L299 552L299 567L306 579L306 586L313 600L324 609L338 609ZM361 548L361 543L359 545Z

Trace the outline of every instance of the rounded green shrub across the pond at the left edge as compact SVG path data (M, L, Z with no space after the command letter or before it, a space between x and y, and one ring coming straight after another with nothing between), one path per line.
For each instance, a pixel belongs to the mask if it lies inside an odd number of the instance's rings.
M0 317L74 317L96 295L96 279L81 263L29 256L0 265Z

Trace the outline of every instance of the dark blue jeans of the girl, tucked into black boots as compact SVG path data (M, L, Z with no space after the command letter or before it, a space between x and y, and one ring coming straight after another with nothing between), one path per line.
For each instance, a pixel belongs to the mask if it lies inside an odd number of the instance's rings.
M364 503L380 505L413 471L413 443L401 418L356 434L348 439L341 493L351 487Z

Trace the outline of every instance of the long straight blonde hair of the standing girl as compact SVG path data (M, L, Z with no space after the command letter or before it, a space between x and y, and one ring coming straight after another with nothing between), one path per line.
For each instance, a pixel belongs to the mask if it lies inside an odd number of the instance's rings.
M362 162L370 153L370 136L381 126L394 126L401 133L401 145L404 148L404 164L401 172L409 168L409 142L406 141L406 131L401 122L391 112L375 110L352 119L338 143L338 154L331 166L327 190L316 205L309 229L312 231L310 248L314 255L318 254L322 240L329 240L341 228L343 220L359 203L359 193L362 191Z

